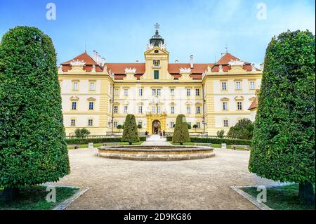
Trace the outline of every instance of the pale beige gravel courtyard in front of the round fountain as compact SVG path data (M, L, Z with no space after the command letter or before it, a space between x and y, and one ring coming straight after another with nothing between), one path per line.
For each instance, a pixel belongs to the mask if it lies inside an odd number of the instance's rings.
M70 150L71 174L55 185L90 187L68 209L257 209L230 186L274 182L249 173L249 152L215 152L210 159L145 162Z

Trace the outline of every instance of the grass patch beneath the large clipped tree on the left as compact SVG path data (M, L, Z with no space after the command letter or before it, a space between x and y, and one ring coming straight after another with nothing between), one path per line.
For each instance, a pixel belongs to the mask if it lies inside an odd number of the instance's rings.
M12 202L5 202L1 198L3 189L0 188L0 210L51 210L60 202L72 197L79 191L78 188L56 187L56 202L46 202L45 186L22 187L18 199Z

